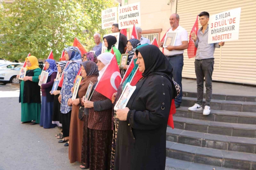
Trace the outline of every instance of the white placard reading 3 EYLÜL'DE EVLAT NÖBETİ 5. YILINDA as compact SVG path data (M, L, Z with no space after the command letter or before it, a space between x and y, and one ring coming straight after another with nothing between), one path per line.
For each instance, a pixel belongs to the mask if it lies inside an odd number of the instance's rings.
M141 25L140 22L140 2L118 7L118 28L125 29Z

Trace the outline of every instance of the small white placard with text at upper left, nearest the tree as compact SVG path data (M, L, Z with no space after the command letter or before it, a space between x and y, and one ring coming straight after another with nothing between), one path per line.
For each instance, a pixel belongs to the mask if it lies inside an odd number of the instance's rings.
M101 11L102 29L111 28L117 23L117 7L109 8Z

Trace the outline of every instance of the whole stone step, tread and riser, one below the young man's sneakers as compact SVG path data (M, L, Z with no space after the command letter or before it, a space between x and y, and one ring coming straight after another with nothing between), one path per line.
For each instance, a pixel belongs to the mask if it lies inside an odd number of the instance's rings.
M177 129L211 134L221 134L226 136L256 138L255 124L214 122L182 117L173 117L173 121L174 128Z

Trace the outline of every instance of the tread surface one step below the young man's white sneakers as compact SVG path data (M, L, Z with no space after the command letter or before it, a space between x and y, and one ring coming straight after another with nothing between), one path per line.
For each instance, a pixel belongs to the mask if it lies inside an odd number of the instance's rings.
M218 127L218 128L223 127L223 128L229 128L229 129L256 130L255 124L214 122L214 121L208 121L208 120L182 118L182 117L177 117L177 116L173 117L173 121L180 122L180 123L201 125L201 126ZM247 128L244 128L244 127L247 127Z

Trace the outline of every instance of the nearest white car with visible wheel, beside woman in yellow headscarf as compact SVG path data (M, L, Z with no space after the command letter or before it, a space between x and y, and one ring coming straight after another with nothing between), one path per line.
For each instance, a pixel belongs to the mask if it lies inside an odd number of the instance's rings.
M0 71L0 82L4 84L19 83L19 79L16 76L19 75L22 66L23 64L14 69Z

